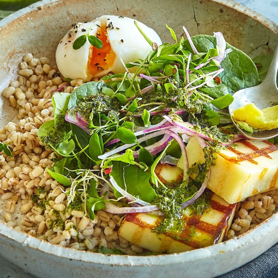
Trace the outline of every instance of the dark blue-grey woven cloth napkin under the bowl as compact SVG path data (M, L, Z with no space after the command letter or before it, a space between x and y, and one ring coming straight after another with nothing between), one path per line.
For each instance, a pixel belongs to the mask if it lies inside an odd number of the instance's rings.
M278 243L248 264L219 278L277 278Z

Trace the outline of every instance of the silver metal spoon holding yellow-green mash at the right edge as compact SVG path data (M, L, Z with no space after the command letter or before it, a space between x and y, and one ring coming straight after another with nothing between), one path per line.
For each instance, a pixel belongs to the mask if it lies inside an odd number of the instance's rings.
M229 113L232 118L233 111L249 103L255 103L259 109L278 104L278 88L276 84L278 70L278 46L276 47L272 62L265 79L260 85L242 89L234 93L234 101L229 105ZM267 140L278 135L278 128L272 130L247 132L242 130L233 120L235 127L245 137L252 140Z

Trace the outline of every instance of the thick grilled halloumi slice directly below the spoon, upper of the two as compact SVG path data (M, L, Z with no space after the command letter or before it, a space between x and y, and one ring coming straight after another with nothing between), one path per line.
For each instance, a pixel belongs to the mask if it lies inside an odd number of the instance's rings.
M268 141L241 140L235 145L216 155L207 187L230 204L278 188L278 148ZM205 161L196 136L186 151L189 166Z

